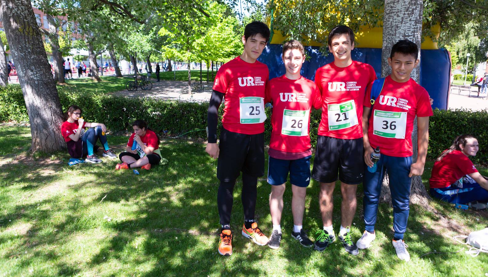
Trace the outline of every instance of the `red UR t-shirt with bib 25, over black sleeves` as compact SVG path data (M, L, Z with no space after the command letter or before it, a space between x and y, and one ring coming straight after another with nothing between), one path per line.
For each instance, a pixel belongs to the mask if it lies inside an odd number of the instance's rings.
M264 132L264 97L268 78L266 64L259 61L249 64L241 57L219 68L213 89L225 94L222 116L225 129L248 135Z

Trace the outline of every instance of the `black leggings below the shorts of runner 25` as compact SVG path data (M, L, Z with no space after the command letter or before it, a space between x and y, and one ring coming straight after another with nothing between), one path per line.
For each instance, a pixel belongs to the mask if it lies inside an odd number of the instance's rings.
M230 213L232 212L232 202L234 197L234 185L236 180L231 182L220 181L219 191L217 192L217 206L219 207L219 216L221 225L230 225ZM243 191L241 199L244 208L244 220L254 219L256 209L258 177L250 176L243 172Z

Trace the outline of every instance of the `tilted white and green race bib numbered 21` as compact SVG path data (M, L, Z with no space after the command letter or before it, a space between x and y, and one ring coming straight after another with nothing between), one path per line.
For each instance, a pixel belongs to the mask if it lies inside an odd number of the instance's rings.
M329 130L340 130L358 125L354 100L327 105Z

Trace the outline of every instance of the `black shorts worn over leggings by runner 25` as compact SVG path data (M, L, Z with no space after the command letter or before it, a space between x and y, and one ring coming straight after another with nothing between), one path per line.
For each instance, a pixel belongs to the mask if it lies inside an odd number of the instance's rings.
M222 128L219 149L219 180L235 180L241 171L254 177L264 175L264 133L246 135Z

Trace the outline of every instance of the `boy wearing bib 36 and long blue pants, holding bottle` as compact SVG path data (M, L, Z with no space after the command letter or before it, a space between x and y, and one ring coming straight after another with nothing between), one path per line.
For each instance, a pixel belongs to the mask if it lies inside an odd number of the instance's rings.
M366 231L357 241L360 249L370 246L376 238L374 226L378 213L381 182L388 172L391 199L393 204L393 246L401 260L409 261L407 245L403 238L407 231L412 176L421 176L428 145L428 117L432 116L427 90L410 78L413 68L419 64L418 47L415 43L402 40L391 48L388 64L391 74L384 79L374 81L365 95L363 114L364 160L368 167L373 167L371 153L380 147L381 157L377 161L377 170L365 170L364 221ZM375 97L374 88L378 85L379 96ZM373 98L371 99L371 89ZM373 102L373 106L371 106ZM371 111L371 116L369 117ZM418 122L418 157L412 164L413 121ZM378 185L380 184L380 185Z

